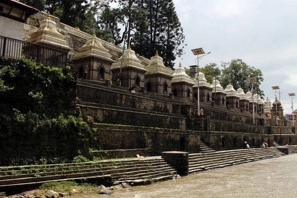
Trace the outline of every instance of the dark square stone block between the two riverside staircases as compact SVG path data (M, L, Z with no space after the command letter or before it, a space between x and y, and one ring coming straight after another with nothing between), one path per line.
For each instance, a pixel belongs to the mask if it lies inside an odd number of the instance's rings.
M189 152L162 152L162 158L173 166L180 176L189 175Z

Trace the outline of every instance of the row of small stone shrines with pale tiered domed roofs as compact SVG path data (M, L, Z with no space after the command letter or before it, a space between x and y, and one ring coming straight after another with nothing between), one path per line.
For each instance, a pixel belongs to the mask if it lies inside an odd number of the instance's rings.
M50 19L50 15L40 23L37 32L30 34L31 43L50 46L55 49L70 51L65 37L56 30L56 23ZM47 54L40 54L45 59ZM212 84L207 83L204 74L199 72L196 78L191 78L185 72L180 64L174 71L163 64L163 59L156 51L155 56L150 58L148 65L142 64L131 49L130 45L123 51L123 54L117 60L113 60L109 50L104 48L101 40L96 37L95 32L87 39L86 44L72 54L71 60L74 69L78 72L78 78L83 77L84 68L88 65L89 70L86 76L88 80L99 82L110 81L113 85L119 84L123 87L135 85L136 89L144 88L147 92L169 95L172 93L175 97L184 99L197 99L206 103L213 103L219 106L230 106L234 109L252 111L252 102L254 103L254 112L264 113L264 102L255 93L244 93L239 88L237 91L229 84L226 89L220 85L218 80ZM199 95L198 80L199 78ZM119 79L120 78L120 79Z

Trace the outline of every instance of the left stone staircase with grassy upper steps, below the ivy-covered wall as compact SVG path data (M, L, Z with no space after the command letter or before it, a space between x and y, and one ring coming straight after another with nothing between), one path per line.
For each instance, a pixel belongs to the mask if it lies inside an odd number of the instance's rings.
M97 162L0 167L0 192L36 189L45 182L74 180L111 185L143 185L146 180L172 179L176 171L160 157Z

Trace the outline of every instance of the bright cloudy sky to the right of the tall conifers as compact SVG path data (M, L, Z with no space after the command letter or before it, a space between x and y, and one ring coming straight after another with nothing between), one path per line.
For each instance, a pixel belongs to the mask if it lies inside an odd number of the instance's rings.
M199 67L240 58L260 69L260 89L275 100L279 86L284 114L292 112L289 93L297 95L297 0L173 0L186 37L185 54L175 68L195 65L191 49L202 48ZM295 25L294 25L295 24ZM279 100L279 94L277 93ZM294 110L297 98L293 99Z

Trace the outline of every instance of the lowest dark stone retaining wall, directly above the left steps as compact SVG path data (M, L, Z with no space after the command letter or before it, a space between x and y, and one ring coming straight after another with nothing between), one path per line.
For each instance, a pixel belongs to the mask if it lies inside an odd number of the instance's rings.
M136 126L94 124L97 132L90 137L90 148L115 150L146 148L148 155L162 151L184 150L198 152L198 132Z

